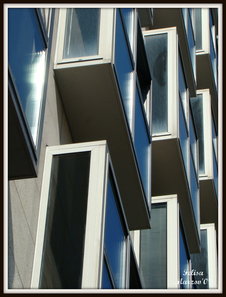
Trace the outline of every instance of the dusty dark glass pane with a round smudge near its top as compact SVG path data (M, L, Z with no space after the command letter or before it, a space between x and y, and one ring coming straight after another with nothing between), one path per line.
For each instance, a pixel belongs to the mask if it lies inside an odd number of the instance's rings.
M152 77L152 134L168 131L167 34L145 36Z

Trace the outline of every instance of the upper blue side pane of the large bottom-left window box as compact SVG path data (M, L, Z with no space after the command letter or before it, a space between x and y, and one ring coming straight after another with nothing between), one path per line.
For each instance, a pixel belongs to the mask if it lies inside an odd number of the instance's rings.
M105 247L116 288L123 289L126 262L126 237L118 213L110 178L108 178Z

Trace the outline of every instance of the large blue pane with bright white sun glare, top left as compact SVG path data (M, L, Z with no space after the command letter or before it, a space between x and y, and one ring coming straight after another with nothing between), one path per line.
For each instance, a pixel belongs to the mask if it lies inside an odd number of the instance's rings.
M8 9L8 61L36 144L45 68L45 44L35 10Z

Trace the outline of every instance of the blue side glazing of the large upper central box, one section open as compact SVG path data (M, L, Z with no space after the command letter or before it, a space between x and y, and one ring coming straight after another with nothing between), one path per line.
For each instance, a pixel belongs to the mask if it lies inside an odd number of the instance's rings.
M136 27L134 15L138 22ZM134 33L132 34L132 32ZM137 56L134 55L133 36L137 42ZM142 67L144 64L146 65L144 60L147 61L147 56L137 10L117 9L114 67L134 143L141 181L150 207L151 135L148 121L150 122L151 76L150 69Z

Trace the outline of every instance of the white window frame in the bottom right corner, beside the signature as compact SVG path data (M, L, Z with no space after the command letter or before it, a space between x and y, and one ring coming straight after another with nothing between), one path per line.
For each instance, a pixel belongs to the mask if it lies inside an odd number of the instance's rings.
M218 289L217 271L217 238L214 223L200 225L201 230L207 231L207 255L209 289Z

